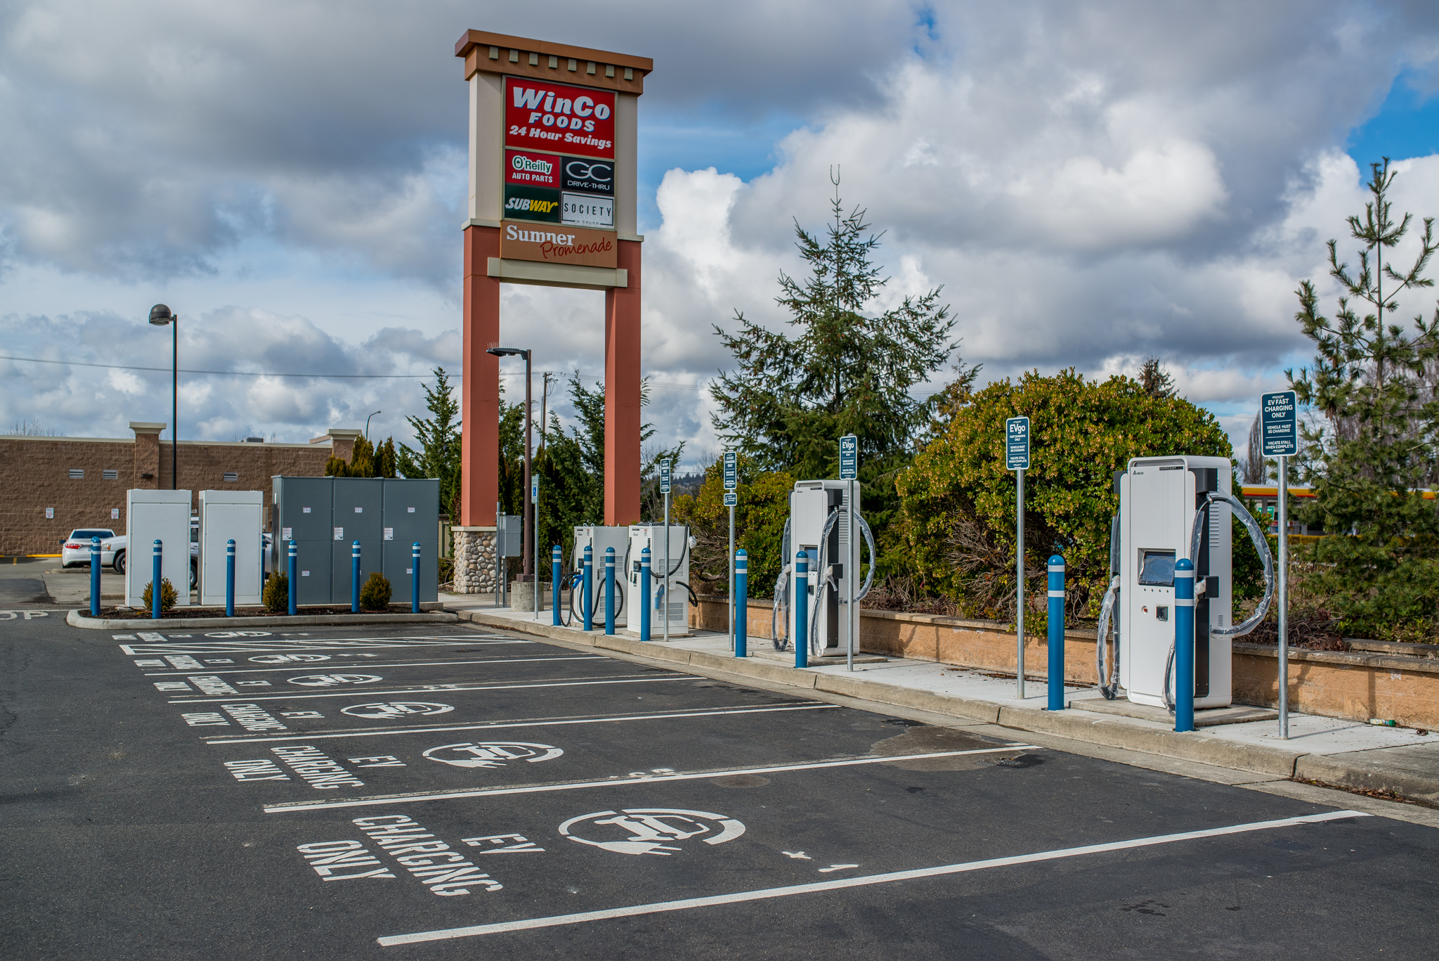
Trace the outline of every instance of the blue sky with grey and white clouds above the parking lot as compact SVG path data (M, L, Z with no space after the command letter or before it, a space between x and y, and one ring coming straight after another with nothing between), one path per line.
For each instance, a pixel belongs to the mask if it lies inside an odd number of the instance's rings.
M783 323L774 277L832 166L886 232L875 310L944 285L986 379L1157 354L1240 442L1311 353L1294 288L1331 290L1368 161L1439 216L1432 0L0 0L0 432L168 421L164 301L183 370L245 372L181 375L181 439L373 411L409 439L422 376L459 372L465 29L655 59L645 370L661 439L692 451L728 365L711 324ZM602 307L508 287L504 336L593 377Z

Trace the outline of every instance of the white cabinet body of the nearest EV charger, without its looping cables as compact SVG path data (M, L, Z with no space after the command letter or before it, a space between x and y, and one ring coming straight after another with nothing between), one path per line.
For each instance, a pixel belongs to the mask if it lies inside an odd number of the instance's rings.
M1190 558L1194 513L1210 491L1230 493L1223 457L1141 457L1120 478L1120 683L1137 705L1173 700L1174 563ZM1227 707L1232 625L1232 529L1226 504L1202 522L1194 563L1194 707ZM1200 594L1200 586L1203 592Z

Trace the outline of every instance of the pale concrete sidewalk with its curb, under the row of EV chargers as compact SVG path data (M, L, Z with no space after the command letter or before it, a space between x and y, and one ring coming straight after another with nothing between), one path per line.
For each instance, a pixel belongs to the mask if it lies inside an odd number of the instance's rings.
M1068 710L1050 712L1048 687L1029 674L1020 700L1013 676L1000 676L953 664L889 658L856 658L845 664L796 669L794 654L774 651L764 638L753 638L750 657L737 658L728 637L696 631L689 637L640 643L623 633L551 627L550 608L511 611L495 608L486 595L442 594L446 611L460 620L586 644L620 654L649 657L695 673L720 671L865 702L932 712L964 720L996 723L1017 730L1058 735L1094 745L1140 751L1180 761L1249 771L1294 781L1312 781L1348 790L1393 794L1427 807L1439 807L1439 733L1407 728L1377 728L1314 715L1289 713L1289 739L1279 738L1275 712L1261 707L1196 712L1199 730L1176 733L1163 709L1107 702L1092 687L1065 687ZM623 630L623 628L622 628ZM1042 667L1042 666L1039 666ZM1122 712L1122 713L1115 713ZM1217 716L1216 716L1217 715Z

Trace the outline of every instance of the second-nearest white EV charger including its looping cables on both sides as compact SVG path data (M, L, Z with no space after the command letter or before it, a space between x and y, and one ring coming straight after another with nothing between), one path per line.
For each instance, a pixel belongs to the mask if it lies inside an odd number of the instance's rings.
M784 566L774 582L774 614L770 637L774 650L789 648L794 637L796 618L809 618L809 656L837 657L849 650L850 579L855 578L855 604L859 604L875 579L875 537L855 504L855 529L869 549L869 572L863 584L859 573L859 537L850 543L845 519L849 514L849 490L859 497L859 481L807 480L796 481L790 491L790 519L784 522ZM794 558L803 550L809 563L806 581L794 584ZM806 598L800 604L794 598ZM858 638L856 638L858 640ZM855 644L859 653L859 644Z

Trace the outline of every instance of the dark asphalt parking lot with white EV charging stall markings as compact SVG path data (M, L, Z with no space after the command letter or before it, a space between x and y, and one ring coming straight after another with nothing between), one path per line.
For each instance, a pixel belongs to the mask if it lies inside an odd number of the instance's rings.
M1433 957L1435 828L997 729L463 625L0 637L7 957Z

